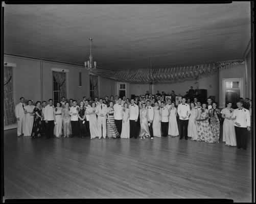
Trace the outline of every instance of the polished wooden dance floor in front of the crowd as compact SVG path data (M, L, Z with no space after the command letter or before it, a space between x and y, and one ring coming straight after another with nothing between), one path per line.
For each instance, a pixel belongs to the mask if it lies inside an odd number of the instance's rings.
M176 138L32 139L5 131L5 196L251 202L247 150Z

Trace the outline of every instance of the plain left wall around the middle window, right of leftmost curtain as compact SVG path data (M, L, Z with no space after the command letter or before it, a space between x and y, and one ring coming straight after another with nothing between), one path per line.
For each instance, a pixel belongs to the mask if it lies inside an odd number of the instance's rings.
M53 74L52 68L68 69L67 98L80 100L89 96L89 72L82 67L43 62L43 98L41 98L41 72L40 61L29 58L17 58L4 56L4 62L15 63L13 67L13 97L14 104L19 102L21 96L25 99L48 100L53 98ZM79 72L82 72L82 87L79 87Z

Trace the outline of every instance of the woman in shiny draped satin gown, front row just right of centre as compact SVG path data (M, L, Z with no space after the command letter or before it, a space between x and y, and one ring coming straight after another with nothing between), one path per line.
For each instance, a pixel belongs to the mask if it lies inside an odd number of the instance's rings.
M146 103L142 103L142 109L139 110L139 117L141 122L141 132L139 133L139 138L144 138L145 136L150 137L149 126L148 126L148 109L146 109Z

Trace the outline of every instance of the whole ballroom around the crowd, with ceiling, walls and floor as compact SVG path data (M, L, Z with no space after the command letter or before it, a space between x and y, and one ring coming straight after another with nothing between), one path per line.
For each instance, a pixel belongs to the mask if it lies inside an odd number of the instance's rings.
M4 200L254 200L253 114L247 150L222 138L18 138L14 115L20 97L55 103L63 93L77 101L146 91L183 96L191 86L219 109L240 97L254 104L250 2L2 8Z

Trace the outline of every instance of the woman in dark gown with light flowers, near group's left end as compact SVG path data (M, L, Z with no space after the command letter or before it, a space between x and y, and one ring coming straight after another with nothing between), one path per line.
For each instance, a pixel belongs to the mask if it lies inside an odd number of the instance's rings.
M42 108L41 108L41 102L36 101L36 107L34 108L34 122L32 127L32 138L40 138L42 137Z

